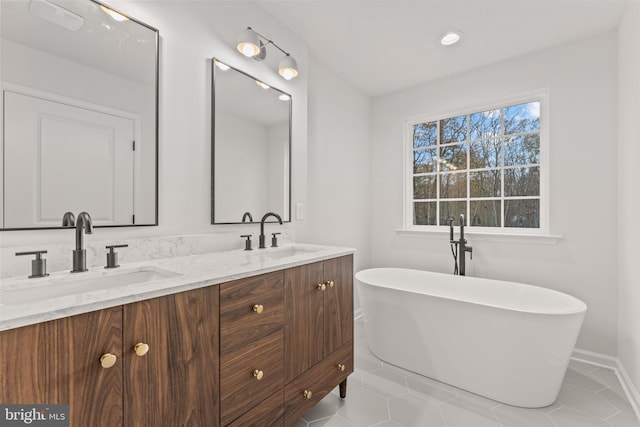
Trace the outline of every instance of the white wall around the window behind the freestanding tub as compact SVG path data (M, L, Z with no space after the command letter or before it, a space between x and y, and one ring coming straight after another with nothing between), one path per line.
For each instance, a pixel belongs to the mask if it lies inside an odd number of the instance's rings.
M608 33L374 99L372 264L453 268L448 233L396 233L403 221L403 119L548 88L550 231L562 239L534 244L470 235L469 274L583 299L589 309L577 346L616 354L616 60L616 34Z

